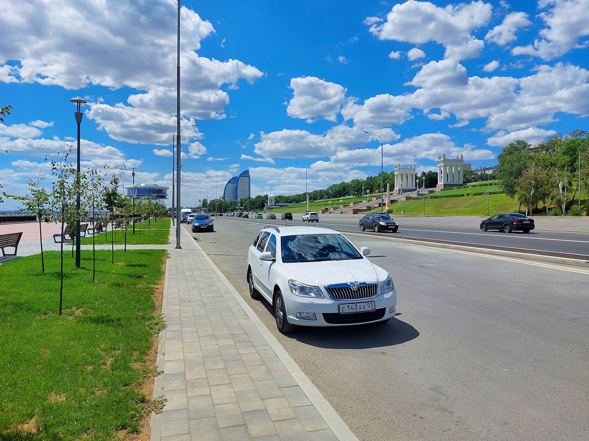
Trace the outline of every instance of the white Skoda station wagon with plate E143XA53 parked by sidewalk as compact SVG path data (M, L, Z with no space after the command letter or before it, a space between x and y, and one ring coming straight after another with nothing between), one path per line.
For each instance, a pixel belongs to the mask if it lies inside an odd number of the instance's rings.
M397 293L388 272L342 234L319 226L266 226L247 252L250 296L262 296L282 333L301 326L386 322Z

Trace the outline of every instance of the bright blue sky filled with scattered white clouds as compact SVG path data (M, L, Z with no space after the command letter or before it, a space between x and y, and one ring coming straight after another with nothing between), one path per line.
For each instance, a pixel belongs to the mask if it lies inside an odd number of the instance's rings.
M249 168L305 191L438 153L492 165L514 139L587 129L589 1L183 2L183 205ZM11 1L0 11L0 183L22 193L75 137L82 165L171 185L176 2ZM45 168L47 170L47 167ZM130 179L130 176L128 176ZM49 180L49 179L48 179ZM0 209L12 209L12 201Z

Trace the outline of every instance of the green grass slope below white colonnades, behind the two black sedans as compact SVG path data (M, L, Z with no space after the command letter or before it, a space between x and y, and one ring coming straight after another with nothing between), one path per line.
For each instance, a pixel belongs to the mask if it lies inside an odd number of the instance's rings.
M518 209L519 203L506 195L490 195L490 212L513 212ZM423 215L423 199L401 201L391 204L391 214ZM375 211L380 211L376 209ZM426 199L426 216L487 216L487 196L464 196L462 198Z

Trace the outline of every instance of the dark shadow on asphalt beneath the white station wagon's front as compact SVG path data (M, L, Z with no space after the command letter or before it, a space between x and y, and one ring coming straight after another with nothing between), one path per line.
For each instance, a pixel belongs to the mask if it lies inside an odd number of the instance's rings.
M316 328L297 326L287 337L326 349L368 349L395 346L418 338L419 331L409 323L392 318L386 323Z

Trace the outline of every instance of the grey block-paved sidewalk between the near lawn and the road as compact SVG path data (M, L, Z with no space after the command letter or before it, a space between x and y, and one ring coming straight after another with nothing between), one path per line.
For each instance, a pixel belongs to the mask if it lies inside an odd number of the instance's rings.
M152 414L151 439L357 441L182 231L183 249L170 246L166 268L162 312L167 328L160 334L157 358L164 373L154 391L167 402L163 413Z

